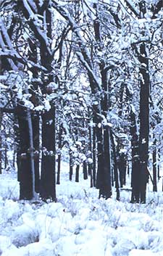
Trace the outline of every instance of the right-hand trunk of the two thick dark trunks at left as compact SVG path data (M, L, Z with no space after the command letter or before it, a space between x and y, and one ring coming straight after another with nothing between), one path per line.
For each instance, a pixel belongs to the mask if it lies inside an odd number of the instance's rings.
M49 8L43 13L43 22L46 24L47 38L52 40L50 1L46 2ZM49 83L54 82L51 54L51 41L49 46L44 40L40 41L41 65L46 67L47 73L42 73L43 94L51 94L48 90ZM41 160L41 198L56 201L56 141L55 141L55 107L51 103L51 109L45 110L42 115L42 160Z

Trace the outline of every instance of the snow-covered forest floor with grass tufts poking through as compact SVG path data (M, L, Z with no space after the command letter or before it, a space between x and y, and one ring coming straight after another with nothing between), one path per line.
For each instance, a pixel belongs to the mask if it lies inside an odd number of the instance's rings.
M58 202L46 204L20 201L16 173L0 176L1 256L163 256L162 181L133 205L128 190L120 202L98 199L82 173L69 181L66 164L61 177Z

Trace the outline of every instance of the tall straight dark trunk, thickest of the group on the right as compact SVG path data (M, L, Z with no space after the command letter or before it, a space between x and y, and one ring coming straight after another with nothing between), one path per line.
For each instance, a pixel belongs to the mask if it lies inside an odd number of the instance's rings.
M139 159L140 159L140 200L146 203L146 183L148 177L148 159L149 159L149 59L146 54L145 44L141 44L139 61L142 65L140 68L141 91L140 91L140 136L139 136Z

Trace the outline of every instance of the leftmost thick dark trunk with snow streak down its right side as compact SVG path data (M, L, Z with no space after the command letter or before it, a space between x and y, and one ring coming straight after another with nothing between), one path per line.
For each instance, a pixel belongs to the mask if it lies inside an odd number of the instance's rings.
M33 145L31 145L31 133L33 133L32 125L29 124L29 113L26 107L22 107L22 104L17 105L17 120L18 120L18 133L19 133L19 146L17 150L17 178L20 181L20 199L33 199L35 197L35 191L38 189L35 187L33 157ZM32 120L31 120L32 121ZM32 123L32 122L31 122ZM30 131L31 130L31 131ZM33 137L33 136L32 136ZM34 177L35 176L35 177Z

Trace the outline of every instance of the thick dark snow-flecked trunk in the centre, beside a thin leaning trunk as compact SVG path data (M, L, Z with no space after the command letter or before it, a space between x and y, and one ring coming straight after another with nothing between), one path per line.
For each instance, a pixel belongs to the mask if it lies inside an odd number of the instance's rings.
M96 38L96 44L99 51L102 51L101 45L101 22L99 20L99 5L93 5L96 12L96 19L93 22L94 34ZM99 102L99 112L96 109L96 138L97 138L97 152L98 152L98 168L97 168L97 181L96 187L99 188L99 197L109 198L112 196L111 185L111 165L110 165L110 145L109 145L109 128L107 126L98 127L101 125L98 115L104 115L107 119L107 112L109 110L109 88L107 80L107 70L105 68L104 60L99 63L99 69L101 73L101 86L103 89L103 96ZM93 87L93 86L91 86Z

